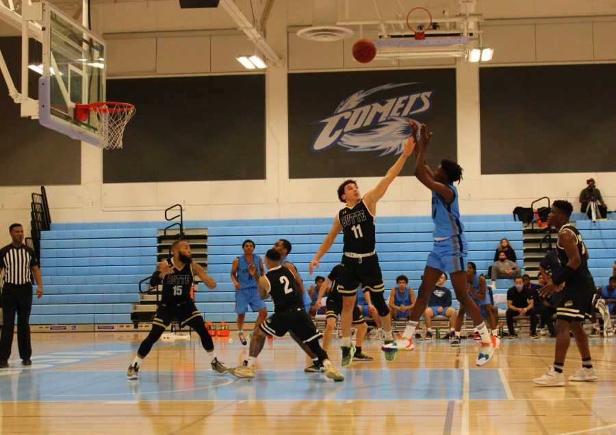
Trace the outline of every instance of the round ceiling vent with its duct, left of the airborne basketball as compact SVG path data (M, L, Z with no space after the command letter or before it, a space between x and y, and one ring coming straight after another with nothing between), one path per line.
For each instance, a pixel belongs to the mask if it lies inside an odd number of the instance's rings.
M335 25L336 18L337 2L312 0L312 26L298 30L297 36L318 42L338 41L351 36L351 29Z

